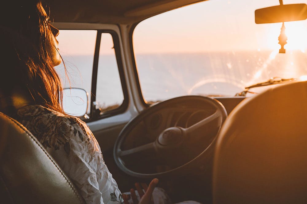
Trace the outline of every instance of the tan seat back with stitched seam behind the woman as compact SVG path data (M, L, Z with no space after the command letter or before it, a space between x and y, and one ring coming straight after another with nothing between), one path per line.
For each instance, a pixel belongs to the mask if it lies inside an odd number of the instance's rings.
M37 139L0 113L0 203L84 203Z

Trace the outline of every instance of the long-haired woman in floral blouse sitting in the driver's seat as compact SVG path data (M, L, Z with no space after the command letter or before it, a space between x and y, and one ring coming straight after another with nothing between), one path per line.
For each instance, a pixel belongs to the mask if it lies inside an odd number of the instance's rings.
M62 86L54 69L61 63L59 30L49 23L41 2L4 2L0 19L5 50L0 57L0 111L42 143L86 203L124 202L92 132L62 109ZM151 182L141 203L150 202L156 184Z

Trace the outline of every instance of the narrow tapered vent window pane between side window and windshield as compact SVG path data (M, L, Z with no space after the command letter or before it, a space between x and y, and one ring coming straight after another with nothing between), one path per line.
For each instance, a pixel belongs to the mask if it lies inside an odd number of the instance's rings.
M123 100L113 38L110 33L102 33L97 74L97 108L102 112L116 109L122 105Z

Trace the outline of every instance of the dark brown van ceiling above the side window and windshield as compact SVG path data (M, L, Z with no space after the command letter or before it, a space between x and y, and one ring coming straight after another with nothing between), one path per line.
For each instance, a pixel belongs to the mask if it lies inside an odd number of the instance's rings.
M45 0L55 22L132 24L204 0Z

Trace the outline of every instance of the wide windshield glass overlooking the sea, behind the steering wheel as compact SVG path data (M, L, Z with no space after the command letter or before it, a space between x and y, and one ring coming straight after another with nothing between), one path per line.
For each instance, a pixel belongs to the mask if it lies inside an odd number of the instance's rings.
M278 0L209 0L139 23L133 43L145 100L234 96L270 77L307 75L306 20L285 22L286 54L279 53L282 23L255 24L256 9L276 5Z

